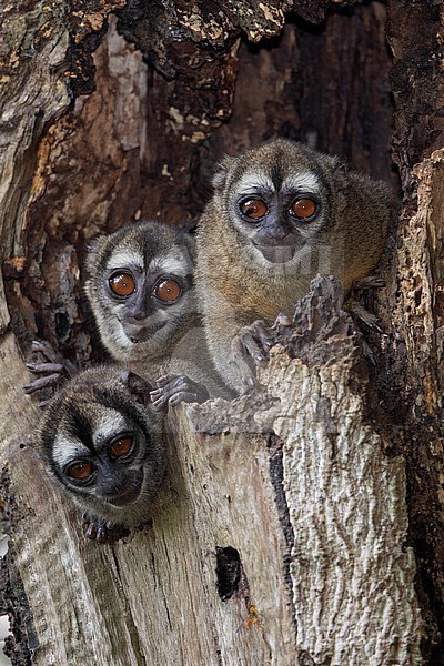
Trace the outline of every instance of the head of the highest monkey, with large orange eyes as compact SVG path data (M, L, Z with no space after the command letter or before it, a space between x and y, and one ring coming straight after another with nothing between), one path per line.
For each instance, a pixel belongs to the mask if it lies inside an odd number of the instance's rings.
M229 159L214 183L239 239L262 264L300 262L327 225L325 164L293 142L279 140Z

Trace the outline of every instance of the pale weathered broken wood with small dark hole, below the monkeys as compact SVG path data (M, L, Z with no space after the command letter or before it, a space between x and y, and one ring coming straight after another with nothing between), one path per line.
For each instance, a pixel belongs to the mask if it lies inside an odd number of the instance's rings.
M168 484L129 543L87 543L32 447L12 447L33 664L420 663L404 462L365 422L339 299L320 283L304 301L315 323L287 343L304 360L274 347L265 394L171 415Z

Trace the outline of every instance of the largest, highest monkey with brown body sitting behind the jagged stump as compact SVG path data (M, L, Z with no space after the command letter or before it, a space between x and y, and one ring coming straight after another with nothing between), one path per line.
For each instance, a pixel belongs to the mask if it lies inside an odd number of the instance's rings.
M242 394L271 344L258 320L291 314L319 273L346 294L376 265L395 204L384 183L284 139L224 159L213 186L196 293L215 367Z

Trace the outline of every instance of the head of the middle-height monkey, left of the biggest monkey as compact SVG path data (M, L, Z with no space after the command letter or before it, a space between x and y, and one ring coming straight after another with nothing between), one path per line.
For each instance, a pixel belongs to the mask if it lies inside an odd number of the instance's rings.
M114 359L162 355L194 312L190 242L145 222L99 239L88 259L87 293Z

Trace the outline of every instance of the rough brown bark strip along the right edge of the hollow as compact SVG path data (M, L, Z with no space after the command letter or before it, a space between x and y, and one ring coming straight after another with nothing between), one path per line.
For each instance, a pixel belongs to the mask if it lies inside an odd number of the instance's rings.
M387 447L403 451L407 458L408 543L417 558L417 588L430 609L427 652L432 664L440 664L444 655L443 164L443 151L435 151L412 174L417 184L417 212L401 221L396 255L392 256L396 263L381 294L380 315L386 335L374 376L383 405L381 420L386 422L389 416L390 421Z

